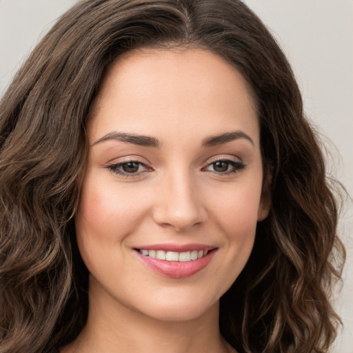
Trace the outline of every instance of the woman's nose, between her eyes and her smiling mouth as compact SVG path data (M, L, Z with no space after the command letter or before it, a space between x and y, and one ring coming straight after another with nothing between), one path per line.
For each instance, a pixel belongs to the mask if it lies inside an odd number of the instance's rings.
M201 193L189 173L165 176L156 199L153 219L163 227L185 232L207 218Z

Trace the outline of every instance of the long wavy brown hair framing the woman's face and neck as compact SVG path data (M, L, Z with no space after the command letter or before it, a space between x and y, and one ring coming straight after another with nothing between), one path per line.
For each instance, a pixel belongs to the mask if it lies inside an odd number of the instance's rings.
M221 333L239 352L325 352L339 322L339 206L290 65L237 0L79 1L19 70L0 102L0 352L50 352L85 325L73 219L85 119L110 63L141 46L210 50L256 97L272 207L221 298Z

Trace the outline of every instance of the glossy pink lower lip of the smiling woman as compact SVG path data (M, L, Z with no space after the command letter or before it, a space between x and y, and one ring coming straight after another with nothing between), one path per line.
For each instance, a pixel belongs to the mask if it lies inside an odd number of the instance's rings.
M193 276L197 272L203 270L212 260L213 255L216 253L216 249L208 252L208 254L201 257L201 259L185 262L159 260L150 256L145 256L139 252L136 253L143 263L154 270L154 272L163 276L180 279Z

